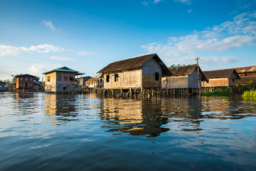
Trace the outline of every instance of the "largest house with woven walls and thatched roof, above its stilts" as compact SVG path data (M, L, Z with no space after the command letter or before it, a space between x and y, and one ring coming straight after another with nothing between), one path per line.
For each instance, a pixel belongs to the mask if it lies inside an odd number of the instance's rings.
M157 54L129 58L108 64L97 73L104 78L104 88L161 88L163 75L172 75Z

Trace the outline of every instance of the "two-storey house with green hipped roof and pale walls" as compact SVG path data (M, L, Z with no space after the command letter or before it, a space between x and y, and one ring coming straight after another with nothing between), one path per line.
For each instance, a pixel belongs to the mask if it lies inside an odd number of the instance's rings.
M55 70L44 72L45 84L44 89L46 92L53 93L67 93L75 92L75 76L83 75L79 71L71 70L64 66Z

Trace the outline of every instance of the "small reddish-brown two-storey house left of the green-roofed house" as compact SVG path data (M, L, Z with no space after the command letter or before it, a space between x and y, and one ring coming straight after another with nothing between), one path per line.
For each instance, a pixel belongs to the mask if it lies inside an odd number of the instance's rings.
M29 74L18 75L16 78L16 91L32 92L34 91L35 76Z

